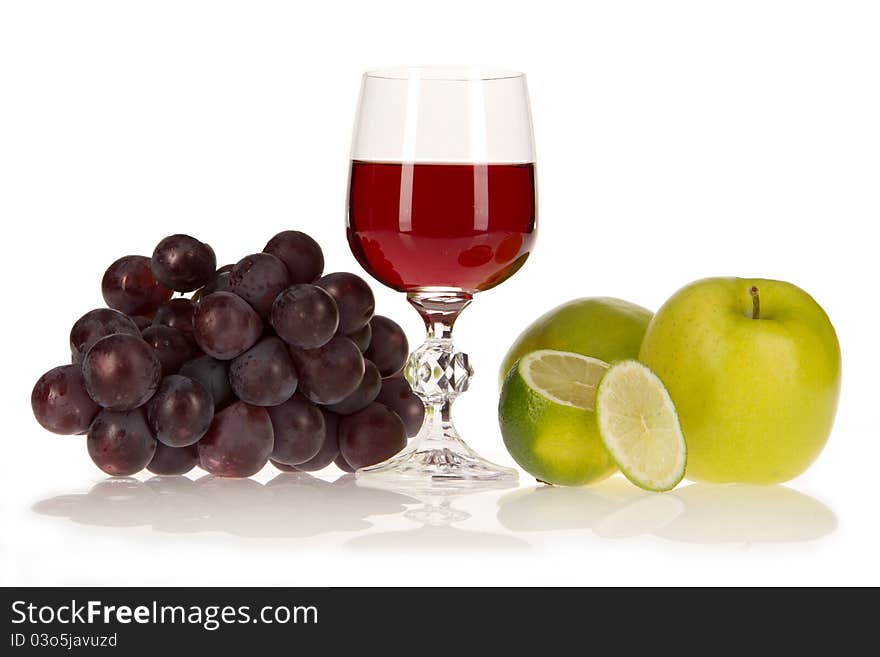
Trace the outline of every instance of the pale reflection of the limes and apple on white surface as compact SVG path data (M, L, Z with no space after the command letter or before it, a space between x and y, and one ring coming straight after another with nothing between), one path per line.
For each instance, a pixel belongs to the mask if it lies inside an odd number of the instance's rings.
M654 535L686 543L783 543L827 536L834 512L785 486L690 484L639 490L620 477L589 488L539 486L499 500L498 521L522 532L589 529L603 538Z

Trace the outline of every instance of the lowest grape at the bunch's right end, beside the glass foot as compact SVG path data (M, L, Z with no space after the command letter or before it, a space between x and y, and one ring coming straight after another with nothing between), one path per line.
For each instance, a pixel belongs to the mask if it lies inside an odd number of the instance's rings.
M355 469L390 459L404 447L403 421L382 404L370 404L339 420L339 452Z

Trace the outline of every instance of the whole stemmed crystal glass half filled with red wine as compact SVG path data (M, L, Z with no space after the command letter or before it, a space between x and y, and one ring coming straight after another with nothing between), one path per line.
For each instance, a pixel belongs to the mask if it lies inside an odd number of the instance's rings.
M374 278L405 292L427 328L405 376L425 404L419 434L358 477L513 481L452 423L473 369L452 326L477 292L504 282L535 241L535 147L522 73L467 67L363 76L352 139L348 242Z

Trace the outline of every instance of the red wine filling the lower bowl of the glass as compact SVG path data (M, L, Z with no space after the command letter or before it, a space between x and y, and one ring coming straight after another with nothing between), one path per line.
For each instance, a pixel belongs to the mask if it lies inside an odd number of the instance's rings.
M373 277L402 292L478 292L512 276L535 241L534 164L354 161L348 241Z

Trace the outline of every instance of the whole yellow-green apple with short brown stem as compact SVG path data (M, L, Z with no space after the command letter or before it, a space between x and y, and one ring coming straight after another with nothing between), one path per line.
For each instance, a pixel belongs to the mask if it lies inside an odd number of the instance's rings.
M689 479L788 481L831 433L840 345L821 306L790 283L691 283L657 311L639 359L678 409Z

